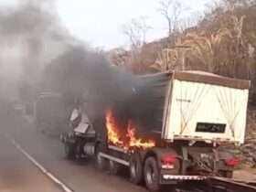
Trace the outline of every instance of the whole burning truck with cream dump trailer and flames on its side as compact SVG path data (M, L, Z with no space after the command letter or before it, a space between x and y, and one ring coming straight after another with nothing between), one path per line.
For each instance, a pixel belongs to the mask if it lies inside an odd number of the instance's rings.
M61 135L67 157L94 157L112 174L127 166L131 181L153 192L185 180L232 177L239 161L220 146L244 143L250 81L200 71L135 81L123 101L105 108L81 101L70 120L74 130ZM101 115L93 118L93 111Z

